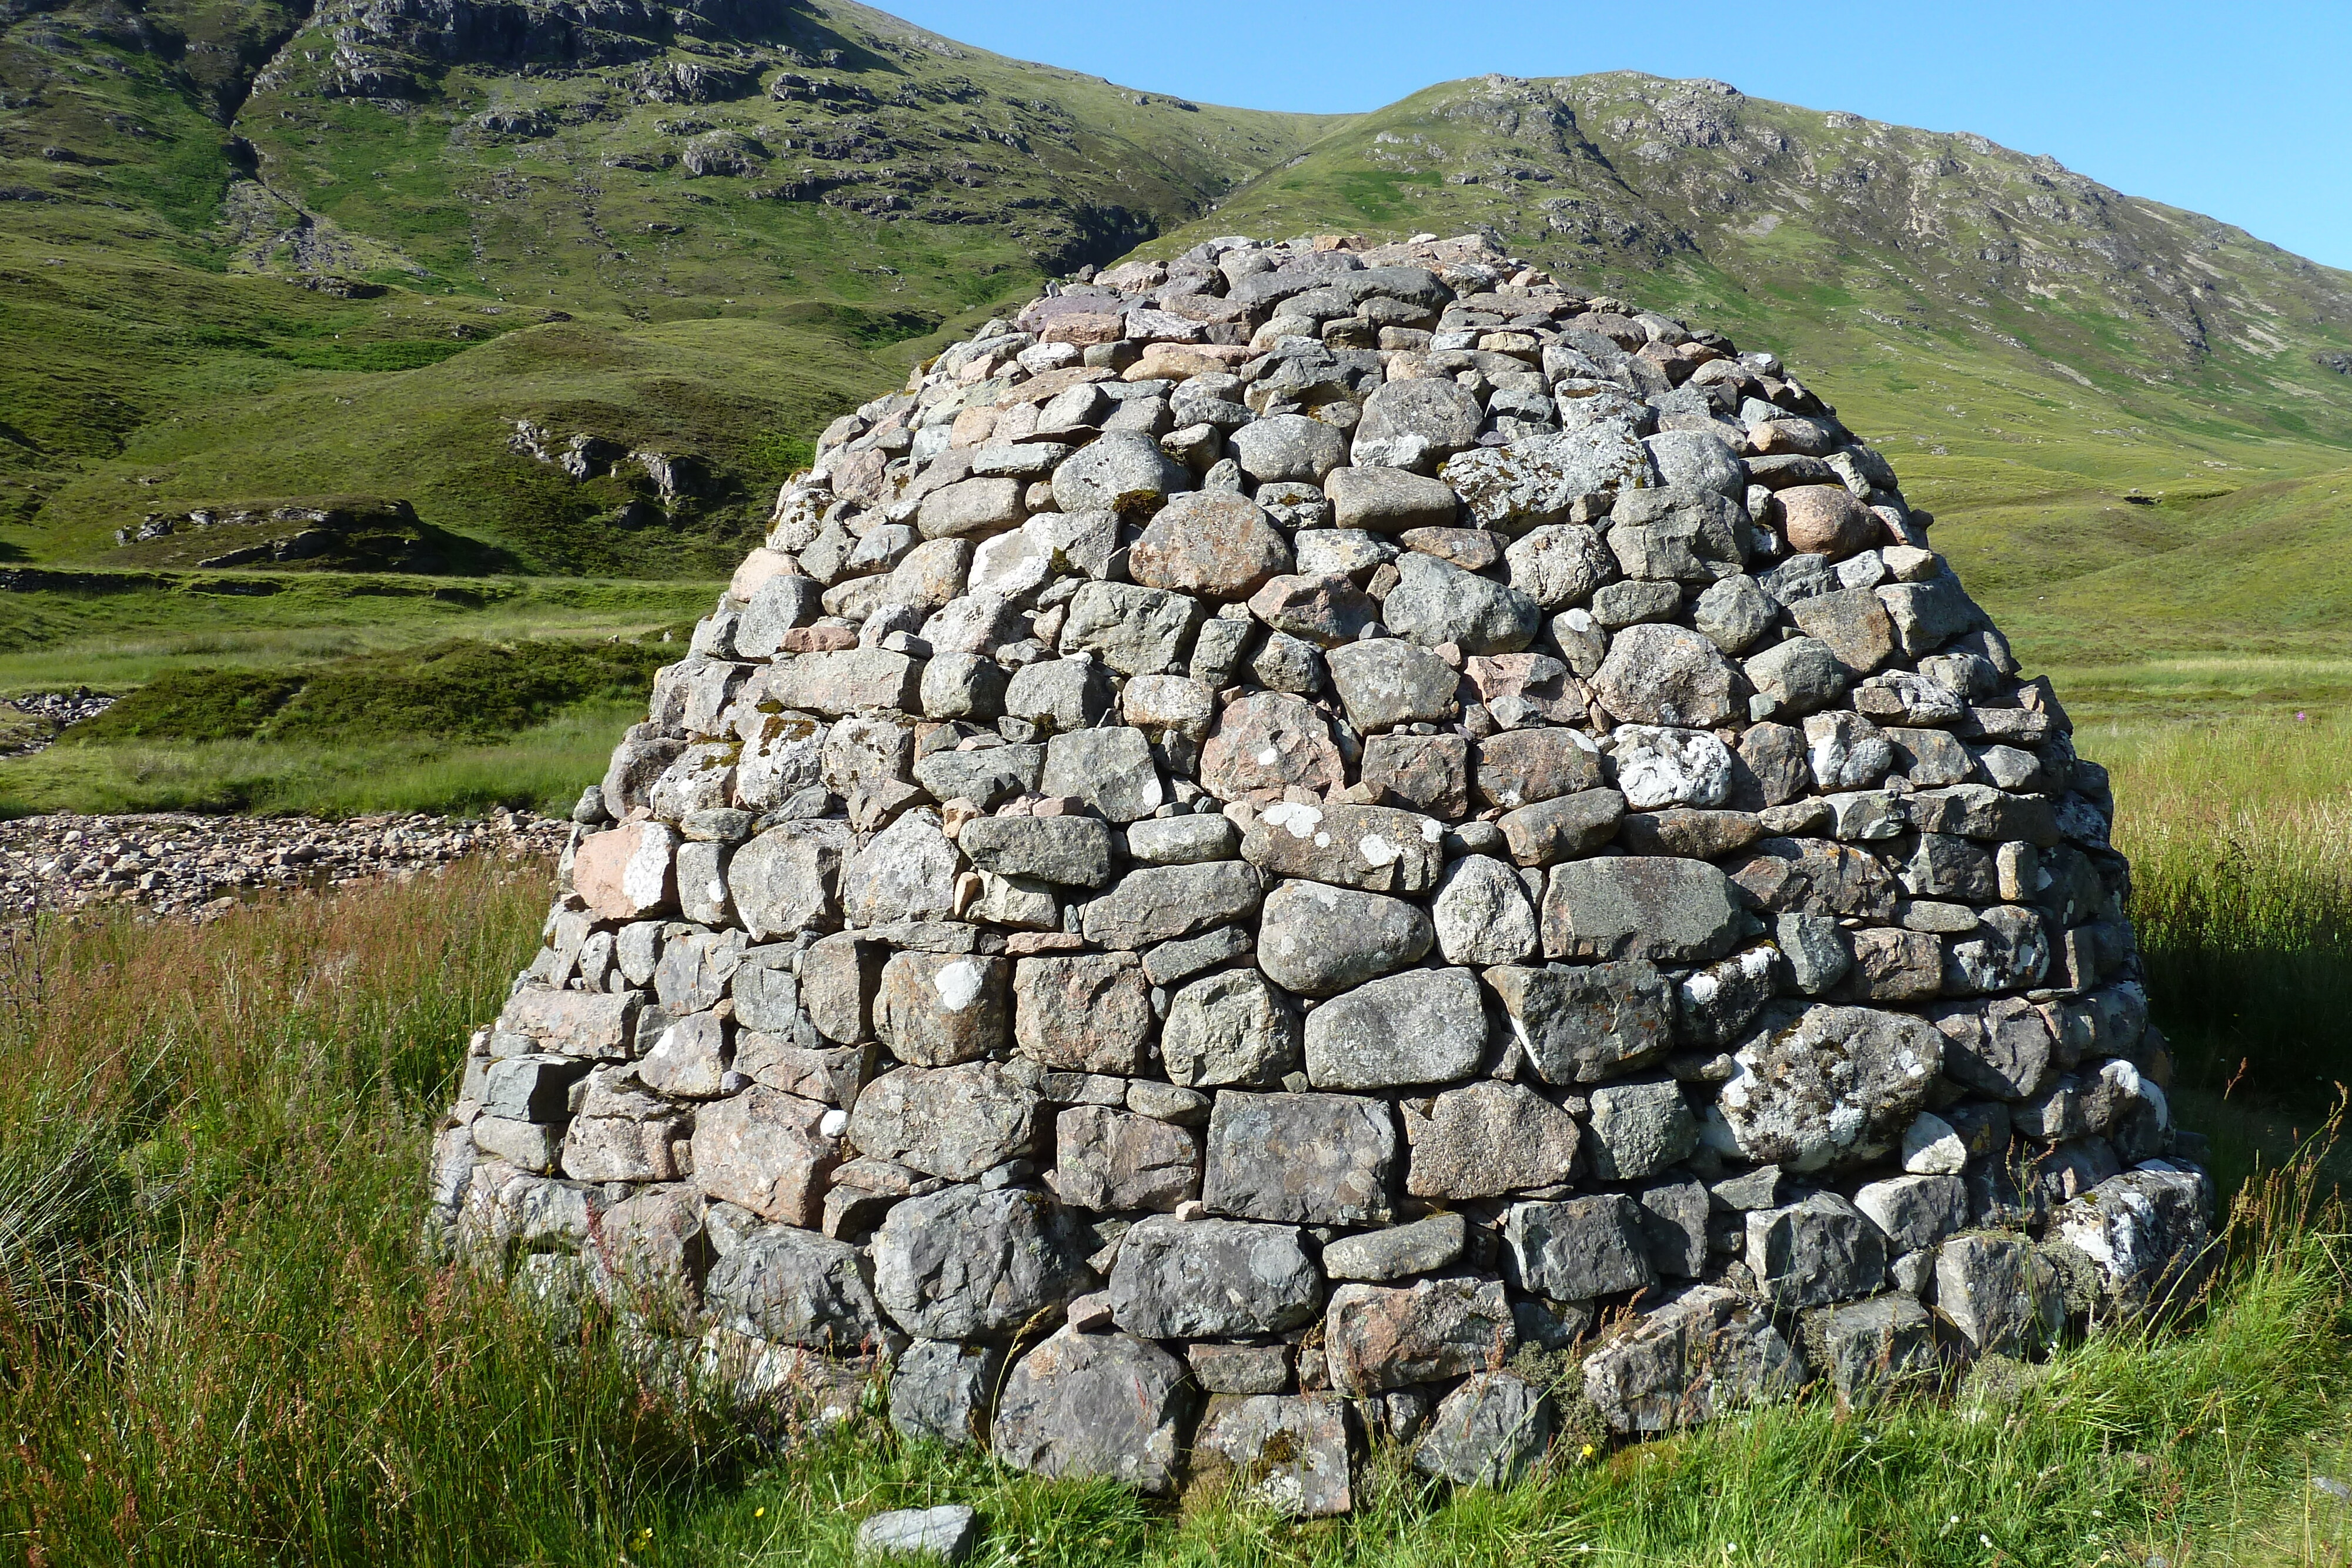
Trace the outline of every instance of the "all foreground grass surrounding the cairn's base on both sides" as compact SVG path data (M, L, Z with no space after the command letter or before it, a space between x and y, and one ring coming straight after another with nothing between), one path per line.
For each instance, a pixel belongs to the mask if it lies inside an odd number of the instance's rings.
M875 1410L776 1453L703 1392L640 1380L612 1324L550 1342L421 1255L426 1128L546 896L539 865L475 863L0 947L0 1549L849 1563L863 1514L964 1500L1002 1568L2352 1561L2352 1255L2340 1161L2307 1147L2352 1077L2352 731L2114 724L2084 745L2117 766L2176 1103L2237 1194L2230 1262L2176 1328L1945 1403L1578 1439L1505 1495L1449 1497L1378 1453L1359 1512L1312 1526L906 1448Z

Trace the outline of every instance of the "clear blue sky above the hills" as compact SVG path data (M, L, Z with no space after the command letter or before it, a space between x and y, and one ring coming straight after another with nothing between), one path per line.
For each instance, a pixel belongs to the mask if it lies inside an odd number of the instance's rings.
M2352 268L2352 0L882 0L882 9L997 54L1244 108L1350 113L1484 71L1712 75L1759 99L2049 153L2117 190Z

